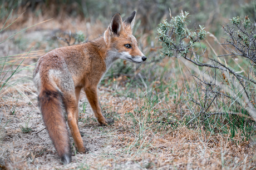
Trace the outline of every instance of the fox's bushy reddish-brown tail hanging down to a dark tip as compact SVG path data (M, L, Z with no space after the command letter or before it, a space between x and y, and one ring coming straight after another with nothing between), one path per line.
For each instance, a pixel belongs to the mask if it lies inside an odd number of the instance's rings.
M71 162L70 139L62 106L62 94L50 84L42 86L38 96L43 122L64 164Z

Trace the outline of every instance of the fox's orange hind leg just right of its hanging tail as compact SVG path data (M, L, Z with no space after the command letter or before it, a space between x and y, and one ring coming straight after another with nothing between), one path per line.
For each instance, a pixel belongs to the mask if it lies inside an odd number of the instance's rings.
M75 142L75 146L78 152L85 153L86 147L83 146L82 137L78 128L78 101L77 97L70 93L65 93L63 96L63 102L67 111L67 122L70 127L70 132Z

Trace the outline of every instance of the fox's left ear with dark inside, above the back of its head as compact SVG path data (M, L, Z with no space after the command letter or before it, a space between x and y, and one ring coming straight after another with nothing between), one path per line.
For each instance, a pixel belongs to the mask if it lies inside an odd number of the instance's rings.
M111 34L119 34L120 31L122 30L122 17L120 13L114 14L114 16L111 19L109 28L111 31Z

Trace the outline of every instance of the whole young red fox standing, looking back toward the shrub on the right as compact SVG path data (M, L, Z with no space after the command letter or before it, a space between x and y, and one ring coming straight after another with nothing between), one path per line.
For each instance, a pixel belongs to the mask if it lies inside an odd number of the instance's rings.
M43 122L64 164L71 162L65 113L77 151L87 151L78 128L81 89L85 91L97 121L100 124L113 123L101 113L97 85L116 59L133 63L147 59L132 36L135 16L136 11L123 22L116 13L103 36L87 43L53 49L37 62L33 81L39 93Z

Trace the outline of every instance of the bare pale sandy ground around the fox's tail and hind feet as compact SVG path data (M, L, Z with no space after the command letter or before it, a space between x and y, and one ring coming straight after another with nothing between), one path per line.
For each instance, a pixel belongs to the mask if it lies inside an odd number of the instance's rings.
M29 94L27 96L33 104L37 105L37 97L35 95ZM82 104L86 102L86 97L81 96L81 101L80 109L83 109ZM9 108L6 105L0 109L2 113L1 124L3 125L8 122L4 128L4 134L2 134L0 153L2 156L9 157L11 159L9 161L13 161L10 167L19 169L19 167L27 165L28 169L70 168L81 164L82 161L85 161L85 163L90 162L90 159L108 151L112 137L106 136L102 131L106 132L110 126L98 125L88 105L86 113L80 117L80 119L83 118L88 121L86 123L80 121L79 126L83 134L83 142L90 150L87 154L75 153L73 139L70 136L72 143L72 163L68 166L63 166L45 129L40 111L33 104L28 105L27 102L24 102L24 99L18 99L13 102L15 106L13 114L9 112L14 109L13 107ZM26 127L26 122L28 122L27 127L31 128L32 131L23 133L21 127Z

